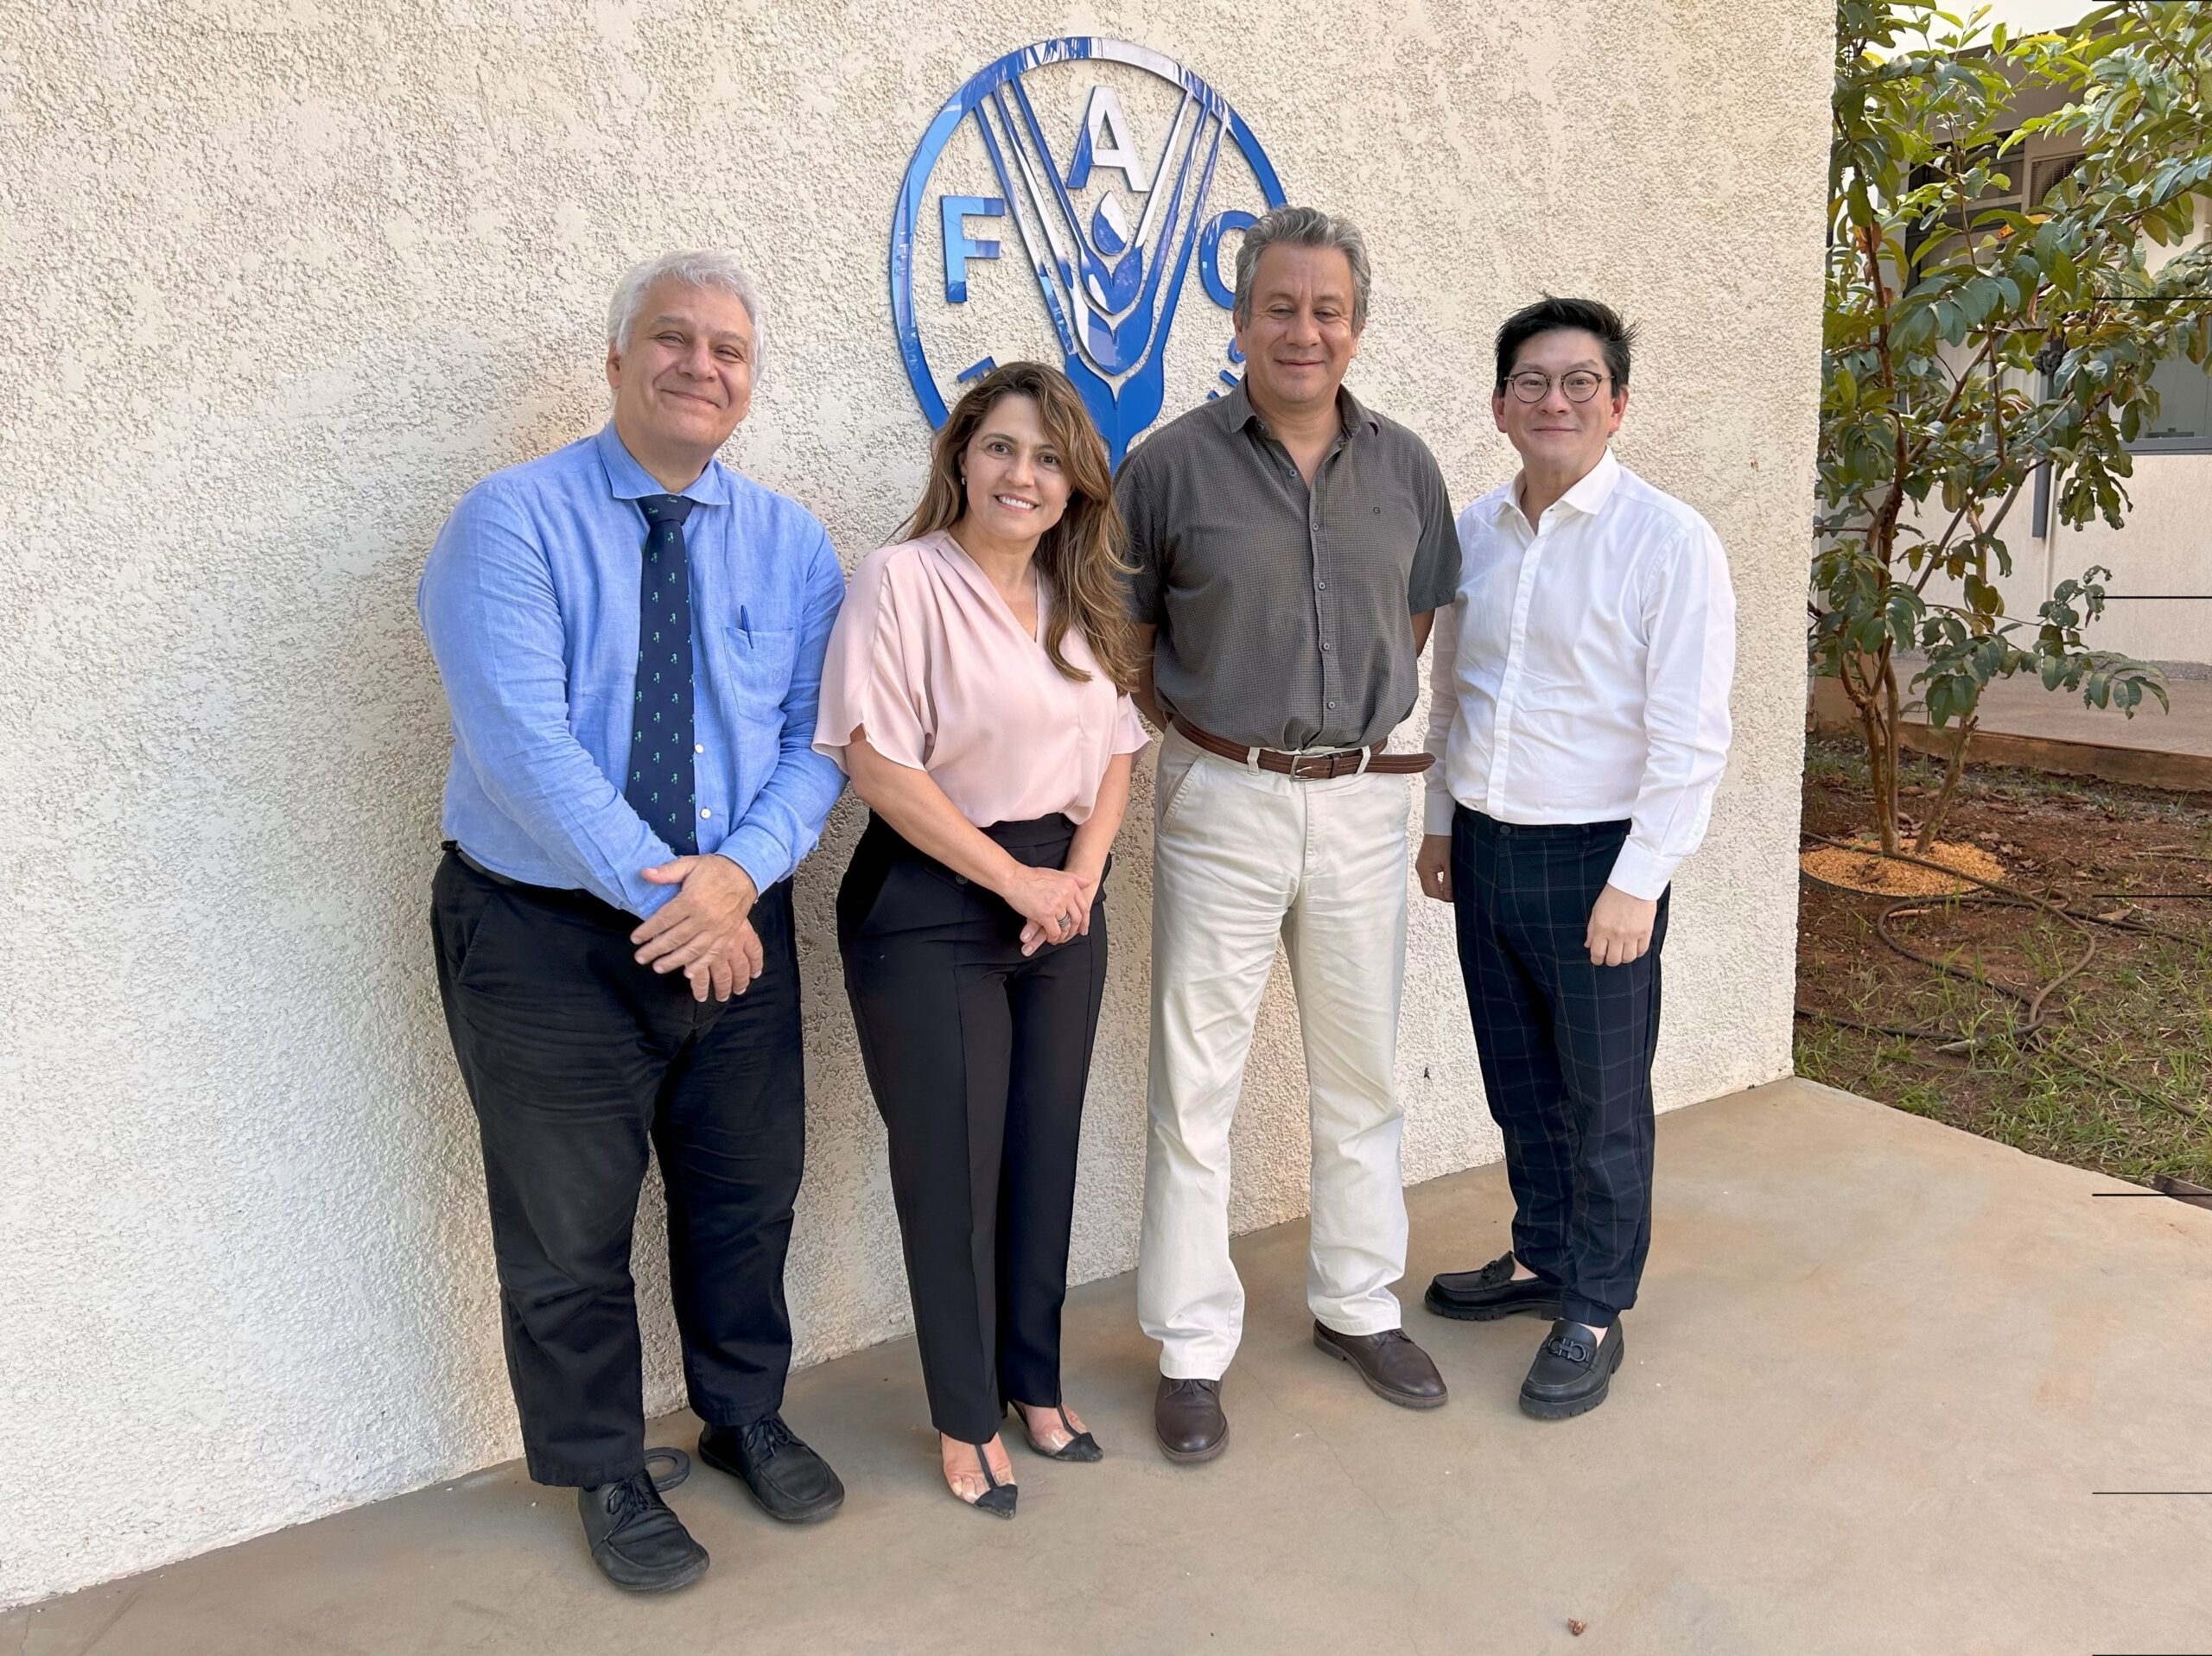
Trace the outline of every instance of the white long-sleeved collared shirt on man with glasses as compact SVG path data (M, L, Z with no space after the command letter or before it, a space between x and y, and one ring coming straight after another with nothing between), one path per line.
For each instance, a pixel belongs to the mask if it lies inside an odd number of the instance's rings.
M1520 478L1460 513L1425 822L1630 822L1610 884L1666 891L1728 761L1736 595L1712 526L1608 449L1531 528Z

